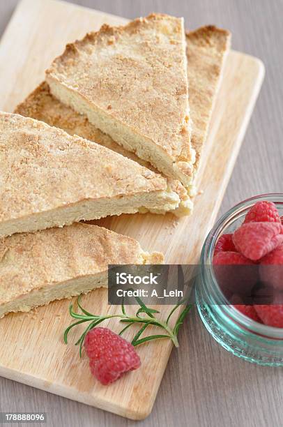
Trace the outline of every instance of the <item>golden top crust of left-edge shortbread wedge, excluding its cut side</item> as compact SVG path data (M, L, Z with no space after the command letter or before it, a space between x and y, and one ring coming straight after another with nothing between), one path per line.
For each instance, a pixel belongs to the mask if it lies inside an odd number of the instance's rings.
M167 190L165 178L138 163L18 114L0 113L0 163L1 221Z

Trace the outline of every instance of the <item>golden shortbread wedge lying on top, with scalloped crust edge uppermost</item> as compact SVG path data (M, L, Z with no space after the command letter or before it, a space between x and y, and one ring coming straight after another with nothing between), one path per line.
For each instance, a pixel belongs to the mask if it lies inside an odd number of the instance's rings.
M149 15L103 25L47 70L52 94L184 186L192 182L183 18Z

